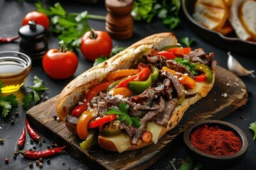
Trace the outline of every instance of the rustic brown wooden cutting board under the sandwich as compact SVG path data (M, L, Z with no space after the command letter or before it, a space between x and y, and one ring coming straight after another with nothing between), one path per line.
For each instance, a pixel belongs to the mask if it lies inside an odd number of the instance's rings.
M164 154L171 152L176 145L175 139L191 123L205 119L219 120L244 105L247 102L247 89L235 74L217 67L213 89L206 98L188 108L176 128L166 133L156 145L152 144L121 154L105 151L98 145L85 151L80 149L79 143L82 141L66 128L65 123L53 118L57 115L55 112L57 100L58 96L55 96L27 112L31 125L43 135L50 140L58 141L61 145L66 145L69 154L91 169L146 169Z

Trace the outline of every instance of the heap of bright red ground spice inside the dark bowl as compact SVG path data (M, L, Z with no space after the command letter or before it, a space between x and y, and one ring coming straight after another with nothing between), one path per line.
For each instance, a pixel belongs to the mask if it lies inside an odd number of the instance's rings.
M201 152L211 155L228 156L240 151L242 142L234 132L216 126L204 125L191 133L191 144Z

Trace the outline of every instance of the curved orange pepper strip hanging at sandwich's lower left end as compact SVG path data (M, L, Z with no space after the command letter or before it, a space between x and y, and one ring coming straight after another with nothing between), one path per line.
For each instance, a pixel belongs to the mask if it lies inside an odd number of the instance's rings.
M87 139L87 136L89 134L89 132L88 132L88 123L89 123L90 120L95 118L93 116L93 113L95 113L95 112L96 111L93 111L93 112L85 111L80 116L80 118L78 120L78 124L77 124L77 132L78 132L78 136L80 137L81 140L86 140Z

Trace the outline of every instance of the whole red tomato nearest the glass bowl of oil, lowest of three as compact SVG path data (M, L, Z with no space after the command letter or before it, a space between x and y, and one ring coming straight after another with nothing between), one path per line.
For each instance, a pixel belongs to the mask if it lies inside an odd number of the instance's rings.
M78 57L74 52L51 49L43 55L43 69L53 79L67 79L78 68Z

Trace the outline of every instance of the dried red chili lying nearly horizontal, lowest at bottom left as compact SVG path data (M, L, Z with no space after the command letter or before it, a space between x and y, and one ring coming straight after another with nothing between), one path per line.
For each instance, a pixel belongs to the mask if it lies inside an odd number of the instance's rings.
M38 159L38 158L44 158L44 157L50 157L53 154L58 154L65 149L64 147L55 147L53 149L46 149L41 151L31 151L31 150L21 150L18 151L21 153L24 157L30 158L30 159Z

